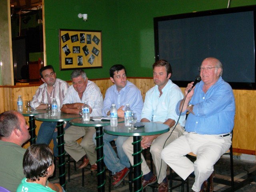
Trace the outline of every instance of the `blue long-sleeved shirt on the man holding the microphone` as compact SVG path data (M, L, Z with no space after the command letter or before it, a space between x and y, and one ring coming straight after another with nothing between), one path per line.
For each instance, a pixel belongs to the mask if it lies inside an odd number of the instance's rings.
M206 93L203 92L204 82L196 84L190 104L193 112L188 114L185 129L198 134L219 135L233 130L235 116L235 98L231 86L222 77L212 85ZM180 102L176 106L179 114ZM183 115L186 112L182 113Z

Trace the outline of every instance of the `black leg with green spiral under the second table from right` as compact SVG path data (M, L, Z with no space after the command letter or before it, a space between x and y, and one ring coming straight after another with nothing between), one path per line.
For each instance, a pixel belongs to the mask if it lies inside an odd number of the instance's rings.
M96 150L97 150L97 176L98 176L98 192L105 191L105 167L103 153L103 128L95 127L96 129Z

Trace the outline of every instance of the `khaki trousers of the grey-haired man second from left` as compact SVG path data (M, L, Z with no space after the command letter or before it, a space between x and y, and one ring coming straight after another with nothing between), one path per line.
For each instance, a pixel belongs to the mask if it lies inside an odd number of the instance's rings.
M95 133L94 127L79 127L70 126L66 129L64 134L65 150L70 156L78 162L85 154L90 161L90 164L95 164L97 160L96 146L92 141L92 136ZM80 144L76 142L79 138L83 137Z

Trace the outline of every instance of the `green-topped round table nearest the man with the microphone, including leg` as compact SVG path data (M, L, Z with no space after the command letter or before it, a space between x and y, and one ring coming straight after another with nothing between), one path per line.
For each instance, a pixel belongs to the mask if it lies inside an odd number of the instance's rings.
M134 192L142 191L141 184L141 152L140 146L141 136L158 135L166 133L170 130L166 124L153 123L153 122L141 122L144 127L129 129L124 123L119 123L117 127L106 126L104 132L107 134L118 135L118 136L133 136L133 158L134 158Z

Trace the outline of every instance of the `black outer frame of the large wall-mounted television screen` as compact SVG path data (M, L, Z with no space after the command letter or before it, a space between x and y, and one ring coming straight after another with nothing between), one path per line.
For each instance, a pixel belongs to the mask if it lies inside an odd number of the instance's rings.
M235 8L225 8L218 10L208 10L201 12L192 12L168 16L160 16L154 18L154 45L155 45L155 60L164 59L159 58L159 42L158 42L158 22L167 21L167 20L178 20L183 18L193 18L193 17L202 17L202 16L212 16L218 14L229 14L236 12L248 12L253 11L254 13L254 82L228 82L232 89L244 89L244 90L256 90L256 58L255 58L255 48L256 48L256 6L244 6L244 7L235 7ZM194 81L193 79L191 81ZM191 81L183 80L173 80L175 84L180 87L186 87Z

